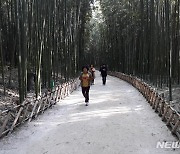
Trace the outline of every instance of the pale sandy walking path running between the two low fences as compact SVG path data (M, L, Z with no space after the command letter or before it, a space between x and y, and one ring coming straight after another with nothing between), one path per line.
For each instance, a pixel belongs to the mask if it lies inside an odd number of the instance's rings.
M157 149L158 141L176 141L143 96L128 83L97 74L90 105L81 90L37 120L0 141L0 154L179 154Z

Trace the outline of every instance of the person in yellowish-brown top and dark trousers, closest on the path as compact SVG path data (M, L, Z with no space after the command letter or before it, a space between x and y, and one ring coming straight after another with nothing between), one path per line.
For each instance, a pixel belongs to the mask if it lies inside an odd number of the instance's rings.
M84 66L82 68L82 73L79 77L79 80L81 81L81 87L82 87L82 94L85 98L86 106L89 104L89 90L90 90L90 84L93 80L93 77L90 72L88 72L89 68Z

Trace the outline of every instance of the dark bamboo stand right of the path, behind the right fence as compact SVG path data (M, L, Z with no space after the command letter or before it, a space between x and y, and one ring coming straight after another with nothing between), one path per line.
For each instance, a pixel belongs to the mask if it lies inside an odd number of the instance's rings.
M180 0L99 0L98 63L156 86L180 83ZM92 40L93 42L93 40Z

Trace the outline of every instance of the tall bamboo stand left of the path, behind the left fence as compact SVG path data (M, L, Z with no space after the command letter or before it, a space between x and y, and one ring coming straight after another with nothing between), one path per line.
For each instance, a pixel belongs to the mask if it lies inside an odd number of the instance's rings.
M36 97L51 80L77 76L83 62L91 0L1 0L1 73L18 68L20 102L28 73L35 74ZM9 84L11 76L9 76ZM4 84L4 91L5 91Z

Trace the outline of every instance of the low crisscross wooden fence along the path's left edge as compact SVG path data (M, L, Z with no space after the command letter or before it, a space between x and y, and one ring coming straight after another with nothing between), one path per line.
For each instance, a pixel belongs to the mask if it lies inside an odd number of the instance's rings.
M32 121L46 109L70 95L79 86L77 79L63 83L47 91L33 101L25 100L22 105L0 112L0 138L11 133L17 126Z

